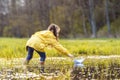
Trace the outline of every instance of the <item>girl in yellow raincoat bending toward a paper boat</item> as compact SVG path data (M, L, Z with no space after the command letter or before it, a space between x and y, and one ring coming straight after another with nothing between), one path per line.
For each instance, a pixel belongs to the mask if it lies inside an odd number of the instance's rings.
M60 27L56 24L51 24L48 26L47 30L38 31L33 34L26 43L28 55L24 64L27 65L29 63L33 57L33 51L36 51L40 56L41 71L44 71L44 63L46 59L46 53L44 49L47 46L52 46L59 52L73 58L73 55L70 54L68 50L58 42L59 32Z

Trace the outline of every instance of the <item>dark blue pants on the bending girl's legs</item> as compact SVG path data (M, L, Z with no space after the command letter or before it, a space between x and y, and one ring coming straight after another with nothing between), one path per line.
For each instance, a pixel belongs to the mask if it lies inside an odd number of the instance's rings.
M28 50L28 55L27 55L26 60L31 60L32 57L33 57L33 52L34 52L35 49L27 46L27 50ZM39 52L39 51L37 51L37 50L35 50L35 51L36 51L36 52L39 54L39 56L41 57L41 58L40 58L40 61L45 61L45 59L46 59L46 54L45 54L45 52Z

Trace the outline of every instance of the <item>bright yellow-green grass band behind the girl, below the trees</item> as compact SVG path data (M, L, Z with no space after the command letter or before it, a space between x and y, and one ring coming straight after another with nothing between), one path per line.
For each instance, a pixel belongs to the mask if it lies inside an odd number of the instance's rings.
M0 38L1 58L23 58L27 55L25 45L28 38ZM75 56L81 55L120 55L119 39L78 39L60 40L60 43ZM64 56L54 48L47 47L48 57ZM39 57L34 54L34 57Z

